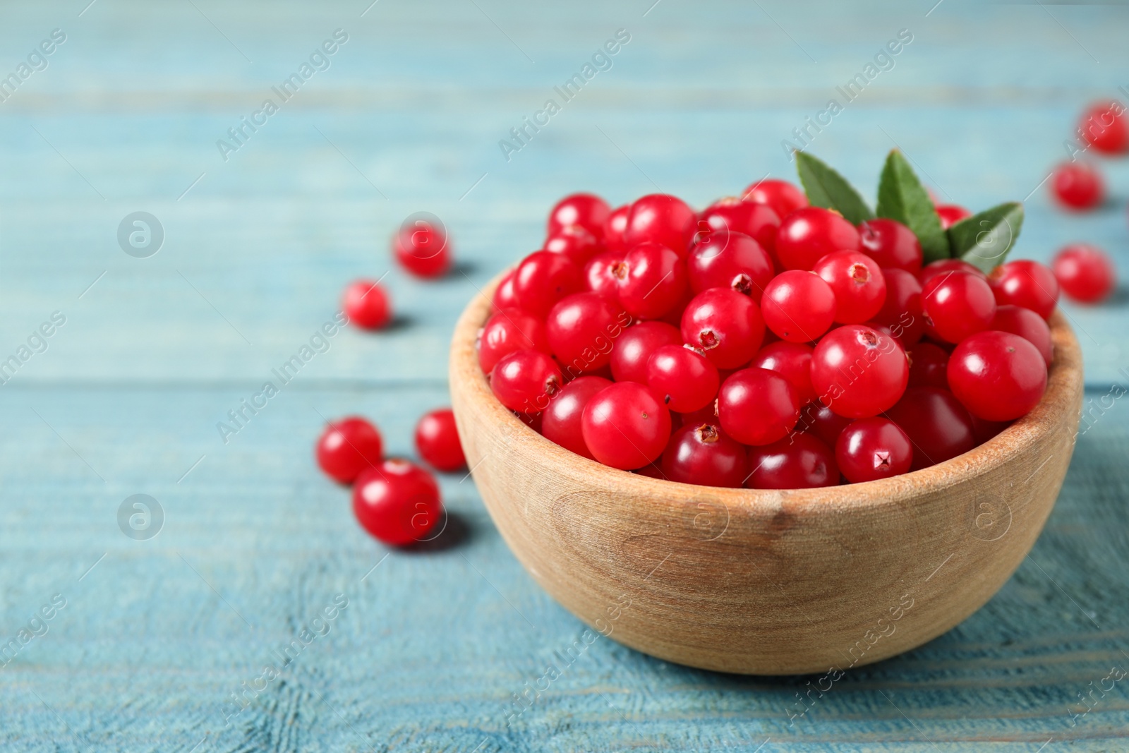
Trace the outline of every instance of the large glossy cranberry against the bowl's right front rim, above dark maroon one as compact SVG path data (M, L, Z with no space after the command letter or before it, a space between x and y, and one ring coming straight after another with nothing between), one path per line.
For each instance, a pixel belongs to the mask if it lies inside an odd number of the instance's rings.
M1047 389L1039 349L1010 332L980 332L948 358L948 387L977 418L1010 421L1026 415Z

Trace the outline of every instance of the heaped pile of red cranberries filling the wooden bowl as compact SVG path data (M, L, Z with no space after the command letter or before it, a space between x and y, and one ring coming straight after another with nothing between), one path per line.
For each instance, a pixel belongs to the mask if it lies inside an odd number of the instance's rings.
M1033 261L922 265L905 225L855 226L784 181L701 212L577 193L496 289L478 354L502 405L605 465L828 487L955 457L1031 411L1058 295Z

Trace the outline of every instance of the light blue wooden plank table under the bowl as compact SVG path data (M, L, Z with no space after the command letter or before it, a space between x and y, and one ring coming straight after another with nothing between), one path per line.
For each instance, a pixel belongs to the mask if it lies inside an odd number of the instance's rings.
M1079 437L1042 539L984 608L794 719L811 677L602 639L507 724L581 623L522 570L472 481L443 480L461 536L388 552L312 462L323 417L349 412L412 453L418 415L447 402L457 312L536 247L557 198L658 187L701 205L790 175L781 141L901 29L912 42L813 152L870 190L898 143L952 201L1030 194L1019 255L1089 240L1129 275L1123 160L1103 164L1115 202L1088 216L1039 187L1082 105L1126 96L1129 9L933 2L6 5L0 360L18 368L0 386L0 640L17 650L0 748L1127 750L1129 676L1110 678L1129 671L1127 401ZM33 55L53 29L65 40ZM348 38L312 60L335 29ZM618 29L611 68L507 160L499 140ZM272 94L304 62L297 93ZM436 283L390 270L387 237L420 210L460 260ZM164 231L143 259L117 239L138 211ZM217 422L343 284L386 272L402 322L330 339L225 444ZM1094 401L1129 383L1127 300L1066 308ZM120 528L133 494L158 500L155 537Z

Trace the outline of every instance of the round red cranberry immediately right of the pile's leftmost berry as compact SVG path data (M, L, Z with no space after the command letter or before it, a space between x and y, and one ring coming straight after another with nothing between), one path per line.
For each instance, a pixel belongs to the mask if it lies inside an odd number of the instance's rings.
M572 374L595 371L612 360L612 344L631 322L598 292L575 292L549 312L545 330L561 367Z

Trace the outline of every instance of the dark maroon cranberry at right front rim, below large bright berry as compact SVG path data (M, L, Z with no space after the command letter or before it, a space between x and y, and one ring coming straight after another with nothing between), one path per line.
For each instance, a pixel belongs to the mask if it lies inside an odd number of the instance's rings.
M911 471L936 465L975 447L972 418L947 389L910 387L886 411L913 443Z

